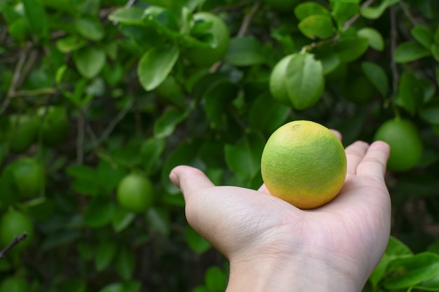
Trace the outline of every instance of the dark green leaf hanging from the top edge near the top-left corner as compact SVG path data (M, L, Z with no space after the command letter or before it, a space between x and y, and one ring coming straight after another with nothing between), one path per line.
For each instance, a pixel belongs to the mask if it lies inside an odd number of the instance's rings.
M48 36L48 19L43 4L39 0L22 0L29 27L38 36Z

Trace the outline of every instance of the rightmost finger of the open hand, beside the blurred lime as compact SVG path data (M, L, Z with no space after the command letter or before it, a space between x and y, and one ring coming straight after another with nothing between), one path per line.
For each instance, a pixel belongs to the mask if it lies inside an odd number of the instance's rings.
M386 174L390 146L383 141L375 141L367 149L367 153L357 167L358 176L377 176L380 179Z

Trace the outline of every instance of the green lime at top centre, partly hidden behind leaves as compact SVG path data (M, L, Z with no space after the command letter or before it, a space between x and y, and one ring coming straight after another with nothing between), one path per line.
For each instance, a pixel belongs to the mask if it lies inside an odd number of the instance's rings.
M209 37L213 37L214 41L212 46L188 48L184 55L192 64L208 67L226 55L230 43L229 29L221 18L208 12L194 14L194 21L211 22L212 26L207 29L205 35L211 35Z

